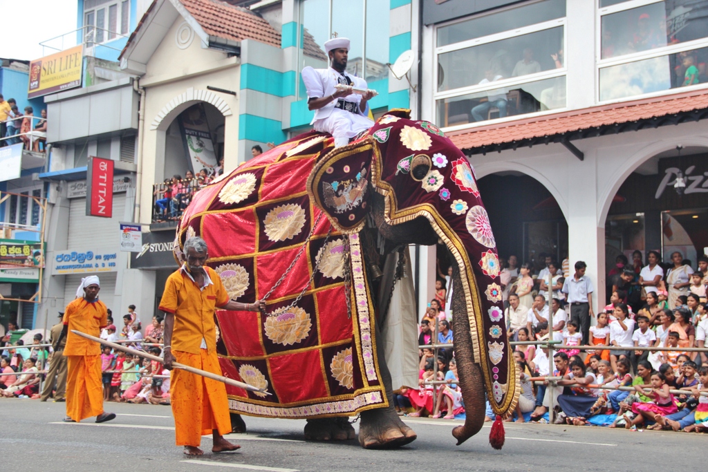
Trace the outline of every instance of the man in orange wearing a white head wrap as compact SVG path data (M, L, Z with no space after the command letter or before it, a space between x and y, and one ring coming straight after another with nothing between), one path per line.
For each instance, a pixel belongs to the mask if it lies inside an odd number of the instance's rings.
M76 289L76 299L64 310L64 330L57 345L67 337L64 356L67 357L67 418L66 422L79 422L91 416L97 423L113 420L115 413L103 411L103 386L101 385L101 347L98 343L72 333L81 331L98 338L101 328L108 324L108 311L98 299L101 282L96 275L81 279Z

